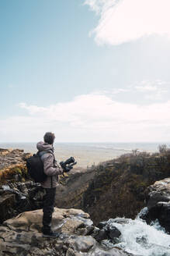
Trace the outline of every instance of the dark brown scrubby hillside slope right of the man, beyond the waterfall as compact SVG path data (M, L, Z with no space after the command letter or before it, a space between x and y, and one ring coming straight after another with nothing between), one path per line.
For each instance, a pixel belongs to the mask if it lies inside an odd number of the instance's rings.
M152 155L134 151L62 178L56 204L82 208L96 225L117 216L134 219L146 205L147 187L169 175L170 151Z

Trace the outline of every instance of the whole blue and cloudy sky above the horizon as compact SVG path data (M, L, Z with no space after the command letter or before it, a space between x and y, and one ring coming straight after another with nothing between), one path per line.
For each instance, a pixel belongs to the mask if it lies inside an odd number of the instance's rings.
M169 142L169 9L0 0L0 142Z

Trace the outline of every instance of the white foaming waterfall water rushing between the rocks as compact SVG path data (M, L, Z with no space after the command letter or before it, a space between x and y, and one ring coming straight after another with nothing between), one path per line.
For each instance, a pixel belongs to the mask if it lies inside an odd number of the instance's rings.
M151 222L151 225L141 219L141 215L147 212L144 208L136 219L126 219L126 222L119 221L120 218L109 219L109 226L115 226L120 230L121 236L117 244L112 247L120 247L127 253L140 256L170 256L170 235L165 233L158 220ZM104 242L110 247L111 240Z

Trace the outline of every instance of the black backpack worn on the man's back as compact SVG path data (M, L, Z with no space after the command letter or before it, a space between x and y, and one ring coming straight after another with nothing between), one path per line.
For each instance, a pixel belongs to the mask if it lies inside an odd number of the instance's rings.
M44 152L44 154L45 153L46 152ZM35 180L36 183L43 182L47 179L47 175L43 172L43 161L40 158L39 152L26 159L26 168L29 176Z

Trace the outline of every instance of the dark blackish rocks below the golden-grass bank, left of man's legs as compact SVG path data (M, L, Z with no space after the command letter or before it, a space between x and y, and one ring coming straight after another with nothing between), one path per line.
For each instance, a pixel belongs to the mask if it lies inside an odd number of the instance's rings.
M44 190L40 184L30 180L0 186L0 223L20 212L42 208L43 195Z

